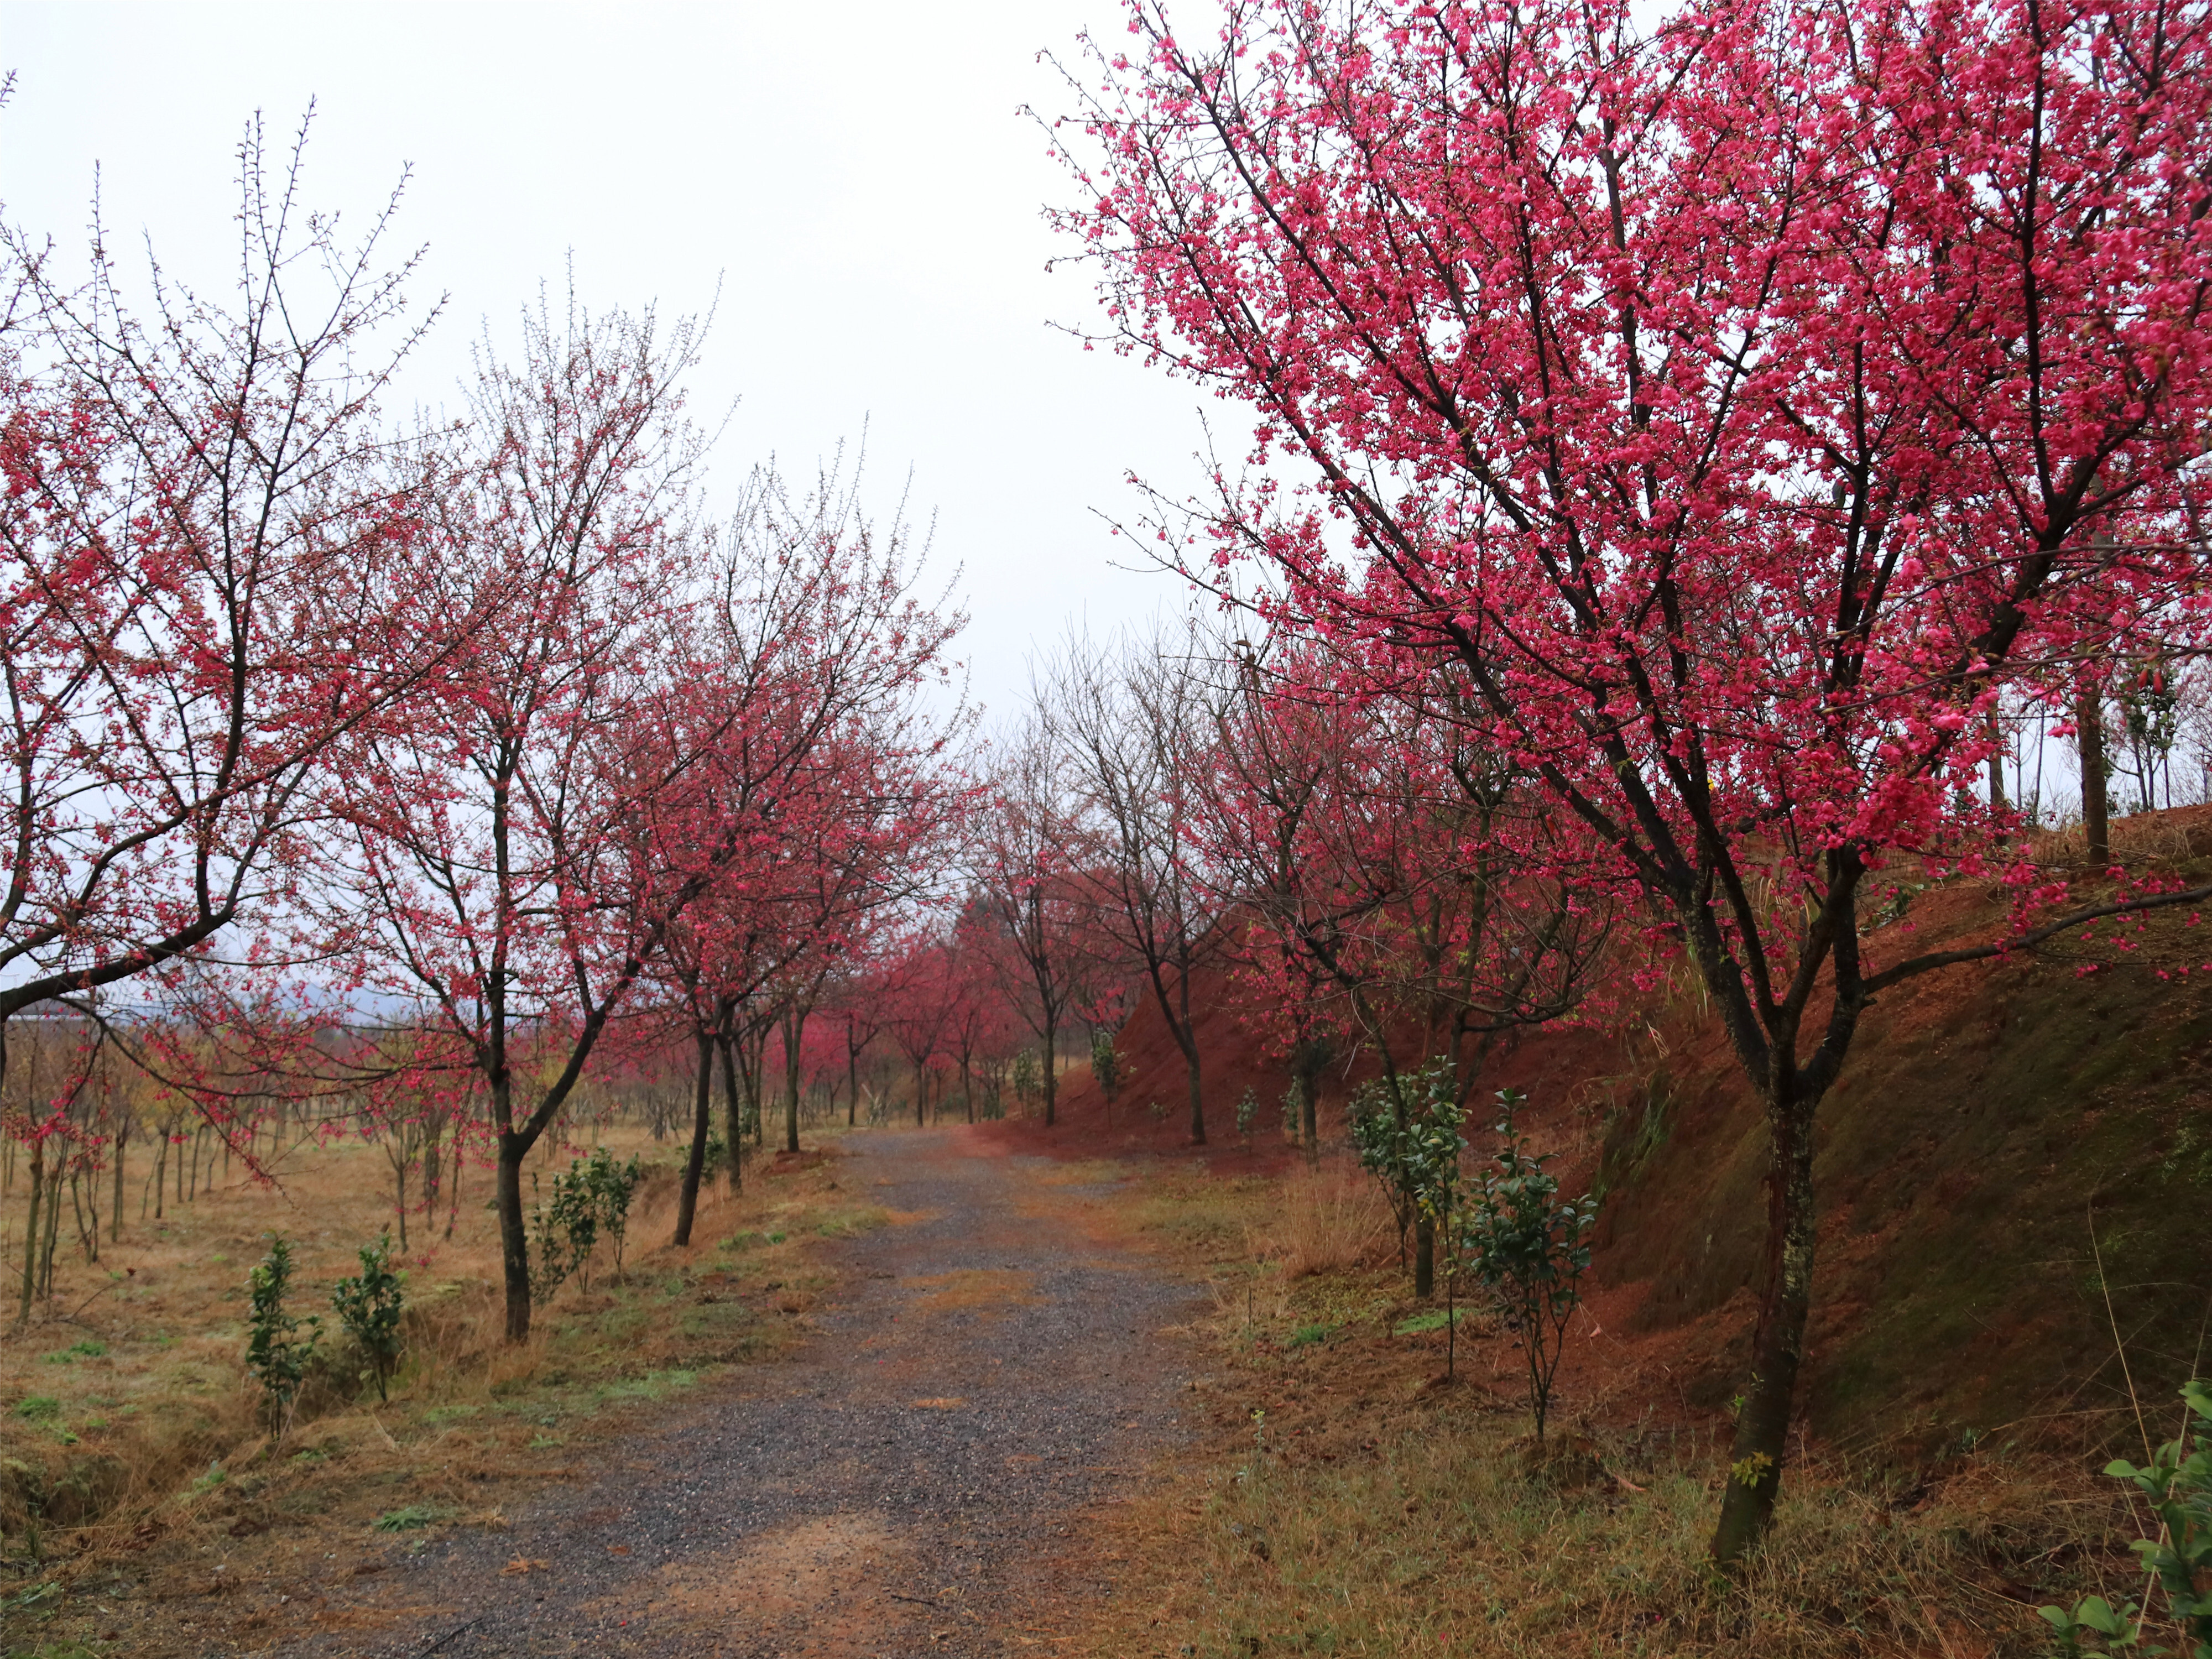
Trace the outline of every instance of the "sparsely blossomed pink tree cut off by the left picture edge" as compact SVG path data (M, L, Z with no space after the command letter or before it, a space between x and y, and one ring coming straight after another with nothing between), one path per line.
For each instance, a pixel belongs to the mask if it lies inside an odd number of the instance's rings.
M111 987L319 956L296 898L341 748L407 719L487 617L440 604L445 469L376 405L436 316L414 259L385 263L398 197L347 241L303 148L246 131L228 301L155 263L142 319L97 226L82 285L0 241L0 1075L38 1004L104 1018ZM201 1108L228 1121L221 1091Z

